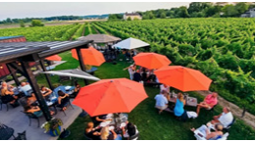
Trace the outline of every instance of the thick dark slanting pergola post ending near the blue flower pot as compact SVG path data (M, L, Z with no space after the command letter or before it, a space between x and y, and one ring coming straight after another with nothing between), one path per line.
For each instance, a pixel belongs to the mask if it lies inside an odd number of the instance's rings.
M37 102L39 103L39 107L40 107L45 119L47 121L50 120L52 117L50 115L49 108L46 105L46 102L44 101L44 98L40 92L39 86L37 85L35 75L30 70L30 67L27 62L22 62L22 68L24 70L24 73L26 73L26 76L27 76L26 79L28 80L28 82L35 94L35 97L37 99Z

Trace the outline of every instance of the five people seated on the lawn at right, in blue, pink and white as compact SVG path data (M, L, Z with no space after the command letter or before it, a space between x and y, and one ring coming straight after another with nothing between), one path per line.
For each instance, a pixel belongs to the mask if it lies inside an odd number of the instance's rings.
M169 107L170 101L170 86L166 84L162 84L160 86L160 94L155 96L156 104L155 107L159 110L159 114L161 114L164 110ZM174 115L180 118L187 118L186 111L184 110L185 100L183 94L179 92L178 97L175 101ZM206 110L211 110L218 104L218 94L213 92L207 95L203 102L197 104L196 114L197 116L200 113L202 108ZM223 128L228 127L233 121L232 114L230 112L230 108L225 107L223 109L223 113L219 116L214 116L213 120L207 123L206 125L202 125L198 128L201 134L206 139L217 139L222 137ZM213 132L209 130L209 127L214 129ZM191 128L191 131L195 131L195 128Z

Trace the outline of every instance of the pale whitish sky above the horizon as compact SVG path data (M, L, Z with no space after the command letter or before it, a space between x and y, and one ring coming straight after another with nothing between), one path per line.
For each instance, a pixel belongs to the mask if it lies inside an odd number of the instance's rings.
M189 2L0 2L0 21L53 16L130 13L187 6Z

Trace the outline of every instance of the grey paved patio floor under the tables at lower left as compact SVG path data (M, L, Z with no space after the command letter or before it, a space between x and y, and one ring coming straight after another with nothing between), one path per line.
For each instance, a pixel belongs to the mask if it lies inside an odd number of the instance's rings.
M71 100L72 101L72 100ZM81 113L81 109L77 106L73 105L74 110L69 107L66 110L66 115L57 108L58 113L54 115L53 118L61 118L63 120L64 125L63 128L69 127L71 123L77 118L77 116ZM6 111L6 105L3 104L2 111L0 111L0 123L3 123L9 127L15 129L14 135L17 136L18 132L23 132L26 130L26 139L27 140L56 140L58 137L52 137L47 133L44 133L44 129L37 127L37 120L31 119L31 126L29 126L29 120L24 113L22 106L17 108L13 108L9 105L9 111ZM45 118L42 116L40 118L40 126L45 122ZM10 139L13 139L11 137Z

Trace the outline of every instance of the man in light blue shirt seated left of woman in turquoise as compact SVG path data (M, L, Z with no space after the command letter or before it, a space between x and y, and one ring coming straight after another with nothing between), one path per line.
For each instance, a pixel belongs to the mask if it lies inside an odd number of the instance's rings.
M165 97L166 91L161 91L160 94L156 95L156 108L159 109L159 114L161 114L168 107L168 100Z

